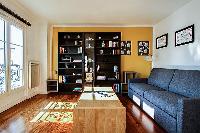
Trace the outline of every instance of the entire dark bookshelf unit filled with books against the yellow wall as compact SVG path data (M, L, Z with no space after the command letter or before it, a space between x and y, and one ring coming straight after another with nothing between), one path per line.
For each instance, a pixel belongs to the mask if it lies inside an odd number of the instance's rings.
M121 32L59 32L58 91L119 84L120 42Z

